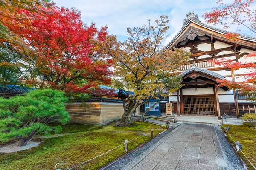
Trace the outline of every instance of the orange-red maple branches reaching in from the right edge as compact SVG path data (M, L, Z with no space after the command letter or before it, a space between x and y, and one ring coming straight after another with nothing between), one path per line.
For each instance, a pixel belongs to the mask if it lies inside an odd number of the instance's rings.
M244 26L253 34L256 34L256 9L251 6L253 0L234 0L234 3L225 4L223 0L218 0L218 7L212 8L212 11L205 13L204 17L207 23L221 24L225 29L230 25ZM240 30L238 30L240 31ZM227 33L224 35L231 41L239 39L238 33ZM247 55L246 57L256 56L256 52ZM227 86L229 89L241 89L244 94L256 94L256 64L253 62L234 62L232 60L219 59L215 60L215 64L238 70L246 68L250 70L249 74L244 76L241 82L233 82L229 80L218 80L219 86ZM256 97L248 100L256 101Z

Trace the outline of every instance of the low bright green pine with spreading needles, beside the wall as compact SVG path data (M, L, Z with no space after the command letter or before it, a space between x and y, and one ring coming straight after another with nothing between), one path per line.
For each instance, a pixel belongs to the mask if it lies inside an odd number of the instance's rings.
M19 139L18 146L24 146L34 136L44 133L55 134L61 126L49 127L49 123L65 124L70 116L65 111L63 91L52 89L33 90L26 96L15 96L9 99L0 98L0 142Z

